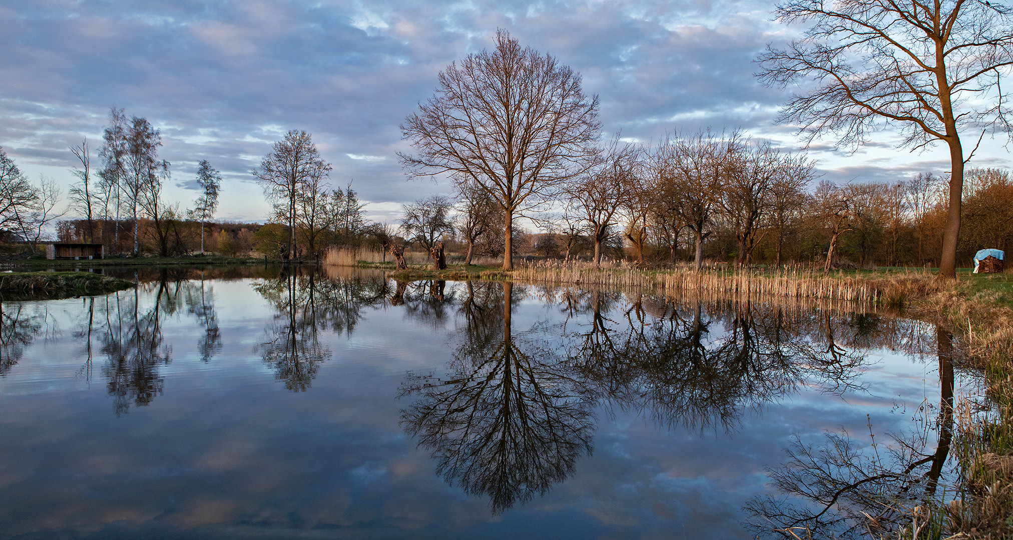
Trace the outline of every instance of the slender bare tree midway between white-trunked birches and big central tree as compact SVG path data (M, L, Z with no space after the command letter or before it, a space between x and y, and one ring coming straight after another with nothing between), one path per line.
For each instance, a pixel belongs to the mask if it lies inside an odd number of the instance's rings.
M317 152L311 136L295 129L275 143L270 154L263 157L260 167L252 171L263 186L264 193L275 203L275 216L289 226L289 253L299 254L296 246L297 208L300 192L311 178L326 177L331 170Z

